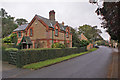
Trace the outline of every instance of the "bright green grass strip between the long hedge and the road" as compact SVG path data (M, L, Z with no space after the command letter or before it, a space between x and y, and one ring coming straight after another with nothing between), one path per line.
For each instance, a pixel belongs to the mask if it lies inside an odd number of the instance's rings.
M86 54L86 53L90 53L90 52L95 51L95 50L97 50L97 48L92 48L89 51L81 52L78 54L71 54L68 56L60 57L60 58L55 58L55 59L45 60L45 61L41 61L41 62L37 62L37 63L28 64L28 65L23 66L23 68L36 70L36 69L47 67L47 66L50 66L52 64L56 64L56 63L59 63L59 62L83 55L83 54Z

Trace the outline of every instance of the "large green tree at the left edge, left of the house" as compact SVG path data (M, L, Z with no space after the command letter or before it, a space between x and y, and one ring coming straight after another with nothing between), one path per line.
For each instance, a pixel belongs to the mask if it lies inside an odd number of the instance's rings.
M17 28L17 24L14 23L14 17L7 14L5 9L1 9L2 12L2 38L9 36L14 29Z

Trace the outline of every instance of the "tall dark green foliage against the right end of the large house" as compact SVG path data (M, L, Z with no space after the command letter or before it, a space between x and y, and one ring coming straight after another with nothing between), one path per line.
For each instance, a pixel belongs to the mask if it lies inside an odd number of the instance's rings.
M80 47L80 39L78 38L77 31L71 28L72 32L72 47Z

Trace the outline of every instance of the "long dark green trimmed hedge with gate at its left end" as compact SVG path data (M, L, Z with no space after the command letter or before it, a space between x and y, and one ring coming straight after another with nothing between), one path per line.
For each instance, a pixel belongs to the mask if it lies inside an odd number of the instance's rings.
M67 56L86 51L86 47L82 48L64 48L64 49L30 49L9 51L8 62L15 64L17 67L23 67L26 64L36 63L48 59ZM16 53L15 53L16 52ZM10 57L12 56L12 57Z

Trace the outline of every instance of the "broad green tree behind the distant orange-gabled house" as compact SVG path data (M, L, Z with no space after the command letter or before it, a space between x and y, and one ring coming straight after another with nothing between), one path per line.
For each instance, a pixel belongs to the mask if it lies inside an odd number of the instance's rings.
M83 33L90 42L97 41L97 40L103 40L103 38L99 35L101 30L97 29L97 26L91 27L90 25L83 25L79 26L78 33Z

